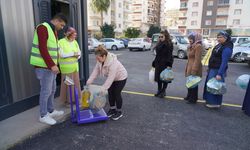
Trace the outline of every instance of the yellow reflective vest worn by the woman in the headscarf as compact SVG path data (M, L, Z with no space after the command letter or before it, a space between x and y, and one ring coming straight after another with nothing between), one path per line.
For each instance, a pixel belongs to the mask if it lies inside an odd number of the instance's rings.
M78 58L74 53L80 55L80 48L76 40L69 41L67 38L59 40L59 67L62 74L69 74L79 71Z

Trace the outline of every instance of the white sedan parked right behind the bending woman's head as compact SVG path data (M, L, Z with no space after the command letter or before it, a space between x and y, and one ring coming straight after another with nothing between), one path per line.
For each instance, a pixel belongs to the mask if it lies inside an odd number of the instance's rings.
M118 50L124 48L123 41L114 39L114 38L102 38L99 40L107 49Z

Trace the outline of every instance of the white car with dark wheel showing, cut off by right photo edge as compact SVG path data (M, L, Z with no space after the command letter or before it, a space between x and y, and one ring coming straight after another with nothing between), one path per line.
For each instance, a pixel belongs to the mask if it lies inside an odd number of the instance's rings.
M242 52L246 52L246 51L250 52L250 41L241 43L238 46L234 46L234 48L233 48L233 54L232 54L231 59L234 62L242 62L242 61L244 61L242 59L241 55L242 55Z

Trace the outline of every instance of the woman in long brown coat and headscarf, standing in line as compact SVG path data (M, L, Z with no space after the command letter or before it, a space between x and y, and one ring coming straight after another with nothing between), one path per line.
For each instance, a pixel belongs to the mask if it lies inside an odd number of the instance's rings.
M202 76L202 37L198 33L190 33L188 36L188 62L186 66L185 76ZM189 104L195 104L198 100L198 86L188 88L187 97L184 98Z

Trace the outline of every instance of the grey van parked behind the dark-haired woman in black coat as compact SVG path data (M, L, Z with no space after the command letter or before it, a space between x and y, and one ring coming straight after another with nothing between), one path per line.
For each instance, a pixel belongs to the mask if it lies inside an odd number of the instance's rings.
M159 39L159 33L153 34L152 36L152 44L151 50L155 52L155 46ZM170 38L172 39L174 50L173 55L177 56L178 58L184 59L187 57L187 47L188 47L188 38L186 36L180 34L170 34Z

